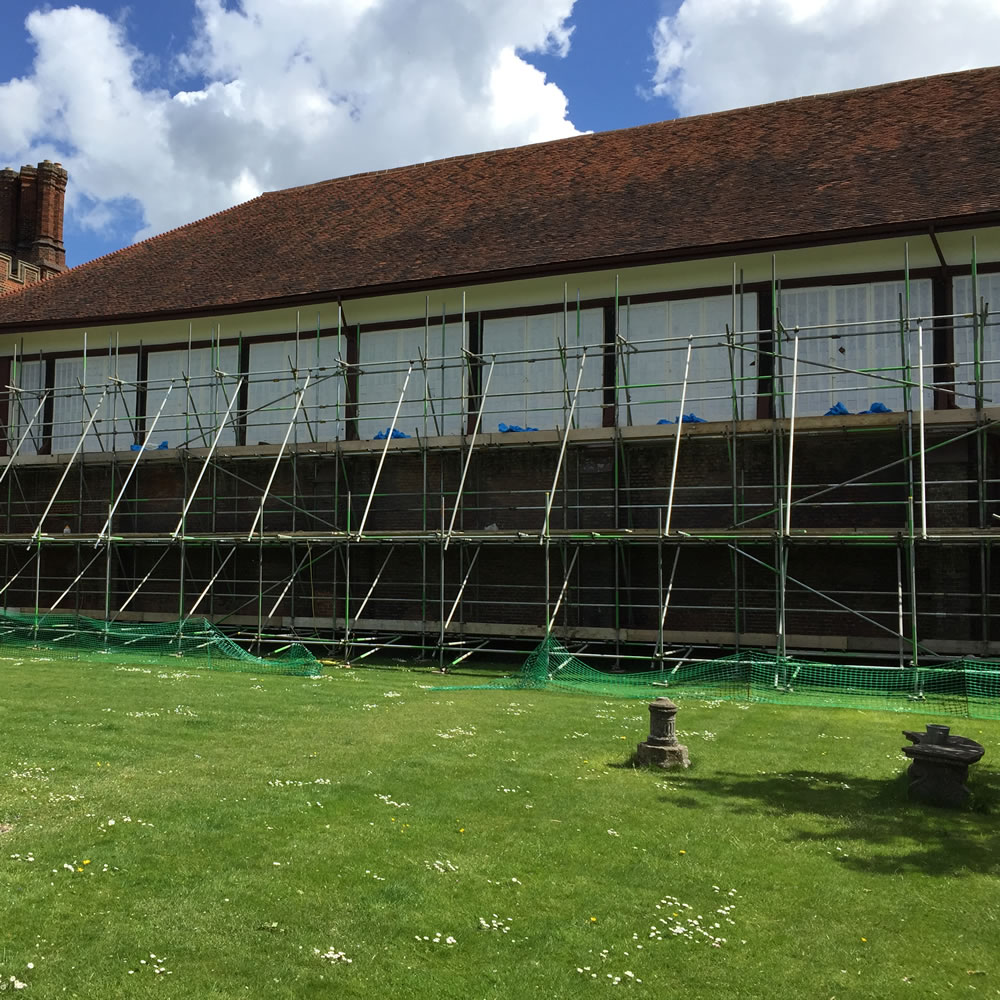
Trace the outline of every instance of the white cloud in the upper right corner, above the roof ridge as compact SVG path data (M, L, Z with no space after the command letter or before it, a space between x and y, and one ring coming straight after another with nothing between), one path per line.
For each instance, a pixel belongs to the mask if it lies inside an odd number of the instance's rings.
M681 114L991 66L998 0L683 0L653 37Z

